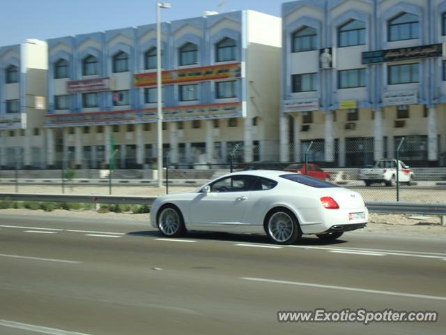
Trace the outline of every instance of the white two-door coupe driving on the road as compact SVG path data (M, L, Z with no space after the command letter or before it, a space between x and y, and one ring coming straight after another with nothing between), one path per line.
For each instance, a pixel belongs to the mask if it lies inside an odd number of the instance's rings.
M302 234L337 239L364 228L368 216L356 192L298 173L255 170L157 198L151 225L167 237L187 230L266 233L274 243L293 244Z

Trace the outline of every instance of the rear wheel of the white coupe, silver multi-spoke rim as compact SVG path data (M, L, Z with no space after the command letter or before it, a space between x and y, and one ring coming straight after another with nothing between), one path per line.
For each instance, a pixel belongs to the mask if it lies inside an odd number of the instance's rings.
M275 244L293 244L302 236L298 220L289 209L274 209L265 221L266 234Z

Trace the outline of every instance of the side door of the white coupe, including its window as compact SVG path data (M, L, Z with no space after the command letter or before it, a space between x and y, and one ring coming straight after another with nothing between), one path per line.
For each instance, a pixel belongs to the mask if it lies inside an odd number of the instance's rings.
M190 204L191 227L217 230L239 225L256 177L233 175L210 184L210 192L198 193Z

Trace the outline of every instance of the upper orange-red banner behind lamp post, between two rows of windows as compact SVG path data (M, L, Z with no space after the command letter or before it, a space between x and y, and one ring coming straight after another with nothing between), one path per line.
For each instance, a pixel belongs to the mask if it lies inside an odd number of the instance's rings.
M199 68L181 68L179 70L162 71L163 85L179 82L199 82L203 80L217 80L238 78L241 76L240 63L201 66ZM133 77L134 87L151 87L156 85L156 72L138 73Z

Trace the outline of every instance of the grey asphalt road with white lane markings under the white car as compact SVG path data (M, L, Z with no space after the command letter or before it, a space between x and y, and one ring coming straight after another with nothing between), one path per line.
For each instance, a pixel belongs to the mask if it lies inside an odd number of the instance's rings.
M446 239L162 239L130 221L0 217L0 334L445 334ZM279 323L277 311L437 311L435 323Z

